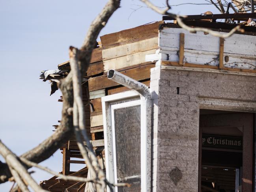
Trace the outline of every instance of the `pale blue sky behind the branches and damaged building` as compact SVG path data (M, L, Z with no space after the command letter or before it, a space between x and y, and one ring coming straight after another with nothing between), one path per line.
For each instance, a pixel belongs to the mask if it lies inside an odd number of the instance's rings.
M56 69L67 61L70 45L80 47L90 23L107 0L0 0L0 139L17 155L38 145L52 134L61 119L60 91L50 96L50 84L39 80L41 70ZM151 2L162 7L165 0ZM172 0L170 4L207 3L204 0ZM123 0L100 35L161 20L161 15L142 7L132 13L138 0ZM208 5L173 6L182 15L205 11L218 13ZM131 15L132 13L132 15ZM129 18L129 19L128 19ZM3 161L3 158L0 157ZM41 163L62 170L60 150ZM78 166L71 167L77 171ZM39 182L51 175L35 168ZM7 192L12 183L0 185Z

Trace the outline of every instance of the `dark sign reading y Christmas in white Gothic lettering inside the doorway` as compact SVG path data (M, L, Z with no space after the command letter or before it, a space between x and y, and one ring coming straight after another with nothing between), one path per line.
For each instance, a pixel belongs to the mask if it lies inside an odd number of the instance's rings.
M243 149L243 137L202 134L202 147Z

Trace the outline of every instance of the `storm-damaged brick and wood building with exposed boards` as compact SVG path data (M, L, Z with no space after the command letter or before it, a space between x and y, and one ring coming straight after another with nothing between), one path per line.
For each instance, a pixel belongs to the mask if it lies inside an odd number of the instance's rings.
M255 191L256 28L245 23L249 18L256 14L184 20L219 34L243 23L244 32L225 39L190 33L169 16L101 37L82 83L83 101L107 179L131 184L114 191ZM65 62L43 72L51 94L69 71ZM61 150L61 173L87 177L86 165L70 170L84 164L75 135ZM52 177L41 186L83 191L85 183Z

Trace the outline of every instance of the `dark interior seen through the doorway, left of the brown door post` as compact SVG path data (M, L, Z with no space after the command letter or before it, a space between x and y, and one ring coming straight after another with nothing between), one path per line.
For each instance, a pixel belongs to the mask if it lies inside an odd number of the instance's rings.
M235 192L241 188L243 128L232 123L235 113L200 110L199 187L202 192Z

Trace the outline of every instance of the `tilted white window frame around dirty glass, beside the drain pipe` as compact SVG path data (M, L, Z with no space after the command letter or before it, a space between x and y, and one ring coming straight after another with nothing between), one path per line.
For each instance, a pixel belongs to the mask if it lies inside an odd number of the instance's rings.
M129 99L133 99L129 101ZM128 101L127 101L128 100ZM141 102L140 95L137 91L125 91L122 93L116 93L113 95L107 95L101 97L102 112L103 112L103 130L104 130L104 145L105 145L105 163L106 163L106 177L110 183L117 183L117 170L116 170L116 139L115 139L115 128L114 128L114 110L129 106L140 105L140 110L146 108L142 107L144 102ZM121 102L121 103L119 103ZM141 111L142 113L142 111ZM144 112L146 113L146 111ZM146 122L144 118L140 118L140 123ZM140 145L143 145L140 143ZM140 171L142 177L147 177L146 171ZM107 189L110 192L109 188ZM118 188L115 187L114 191L117 192Z

